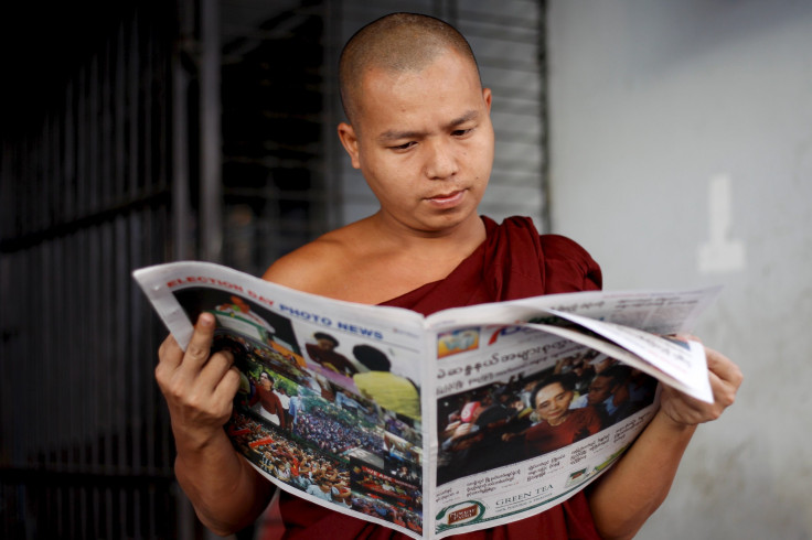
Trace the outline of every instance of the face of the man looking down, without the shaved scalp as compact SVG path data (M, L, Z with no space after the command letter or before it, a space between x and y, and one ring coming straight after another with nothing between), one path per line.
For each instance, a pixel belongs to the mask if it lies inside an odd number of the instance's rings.
M456 52L420 72L373 68L339 136L392 224L426 234L479 219L493 164L491 93Z

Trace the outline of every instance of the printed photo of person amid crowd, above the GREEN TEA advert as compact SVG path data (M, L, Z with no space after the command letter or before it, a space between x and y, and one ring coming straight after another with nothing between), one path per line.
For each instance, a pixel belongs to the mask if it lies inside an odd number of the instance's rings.
M652 404L656 380L584 348L438 401L437 485L568 446Z

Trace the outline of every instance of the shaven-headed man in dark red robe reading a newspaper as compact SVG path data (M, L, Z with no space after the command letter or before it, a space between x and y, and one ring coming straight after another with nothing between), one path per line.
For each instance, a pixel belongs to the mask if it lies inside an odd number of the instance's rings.
M423 15L386 17L350 41L340 77L348 122L339 137L381 208L284 257L266 279L423 313L599 288L597 264L575 242L539 237L526 219L500 226L478 215L493 162L492 98L458 32ZM222 429L239 378L231 354L209 356L213 328L203 314L185 354L169 337L156 377L172 417L177 477L203 522L227 533L256 518L271 487ZM581 492L494 534L631 537L665 498L696 424L734 400L738 368L713 350L707 356L715 404L664 389L659 412L588 498ZM380 526L301 499L282 495L280 507L287 538L391 538Z

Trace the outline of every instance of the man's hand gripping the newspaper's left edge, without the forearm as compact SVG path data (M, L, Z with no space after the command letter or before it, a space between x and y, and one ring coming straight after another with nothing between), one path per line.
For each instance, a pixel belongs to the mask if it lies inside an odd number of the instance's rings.
M175 441L190 450L220 436L239 387L232 353L210 354L214 328L214 316L202 313L185 353L171 335L158 350L156 380L169 406Z

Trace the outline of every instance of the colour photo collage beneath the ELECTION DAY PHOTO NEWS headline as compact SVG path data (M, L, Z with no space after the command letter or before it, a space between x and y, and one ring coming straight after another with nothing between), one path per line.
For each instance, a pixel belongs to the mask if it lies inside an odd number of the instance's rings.
M238 452L298 496L421 533L418 379L393 363L407 352L339 338L228 291L173 294L191 321L215 315L214 348L235 357L241 386L226 431Z

